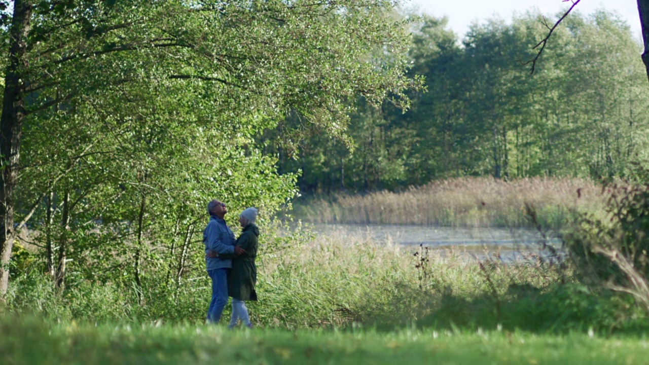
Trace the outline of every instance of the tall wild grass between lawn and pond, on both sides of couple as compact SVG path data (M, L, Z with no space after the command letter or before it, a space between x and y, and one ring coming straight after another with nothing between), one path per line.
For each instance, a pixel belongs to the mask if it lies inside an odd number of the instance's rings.
M480 262L459 250L417 247L414 255L413 247L342 231L276 249L258 258L260 301L248 303L251 320L256 327L286 329L416 323L610 333L646 327L628 297L583 288L569 269L539 255L500 262L495 253L495 260ZM59 293L32 274L13 283L8 308L55 321L202 323L210 287L205 275L171 291L146 286L142 297L139 304L134 292L110 283L81 283Z

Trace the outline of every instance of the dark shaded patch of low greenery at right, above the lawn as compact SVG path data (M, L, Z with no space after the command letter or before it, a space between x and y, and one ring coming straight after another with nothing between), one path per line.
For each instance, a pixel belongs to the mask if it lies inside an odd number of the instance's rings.
M417 321L417 326L531 333L649 331L646 313L632 297L607 290L594 292L579 284L554 284L543 290L530 284L511 284L498 297L484 293L471 299L446 293L439 297L430 314Z

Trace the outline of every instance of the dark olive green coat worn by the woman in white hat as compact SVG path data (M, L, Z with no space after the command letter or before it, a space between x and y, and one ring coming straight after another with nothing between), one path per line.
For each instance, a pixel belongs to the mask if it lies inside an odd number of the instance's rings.
M228 296L239 300L257 300L254 285L257 283L257 266L254 258L257 256L259 229L249 224L241 230L241 235L234 245L245 249L236 258L232 258L232 270L228 272Z

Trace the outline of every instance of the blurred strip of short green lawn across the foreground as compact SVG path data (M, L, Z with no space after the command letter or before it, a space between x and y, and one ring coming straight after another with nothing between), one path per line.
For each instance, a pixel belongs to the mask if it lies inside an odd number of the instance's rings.
M649 341L485 331L228 331L0 320L0 364L646 364Z

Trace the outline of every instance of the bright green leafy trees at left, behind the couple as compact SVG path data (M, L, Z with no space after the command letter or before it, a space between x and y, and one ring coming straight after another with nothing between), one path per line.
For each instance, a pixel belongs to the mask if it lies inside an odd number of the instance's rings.
M282 132L288 145L310 129L343 143L350 101L406 108L421 86L391 1L18 5L4 10L5 92L18 90L5 105L24 110L3 113L19 161L3 165L0 215L57 288L110 283L139 305L146 288L202 278L208 201L236 226L242 208L268 223L295 195L258 134L291 114L307 125Z

